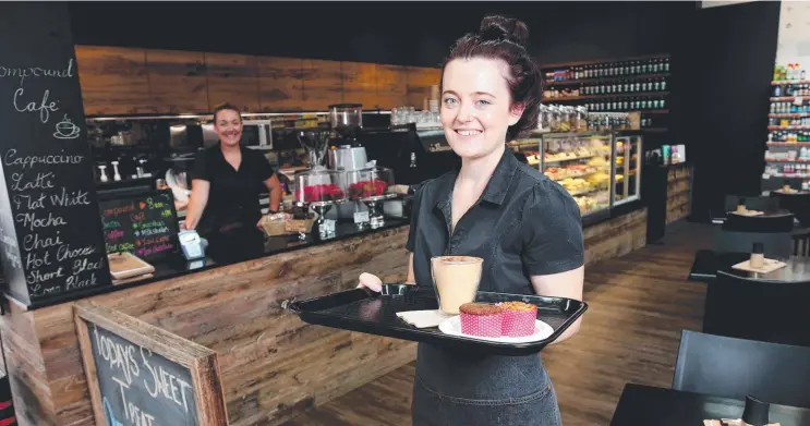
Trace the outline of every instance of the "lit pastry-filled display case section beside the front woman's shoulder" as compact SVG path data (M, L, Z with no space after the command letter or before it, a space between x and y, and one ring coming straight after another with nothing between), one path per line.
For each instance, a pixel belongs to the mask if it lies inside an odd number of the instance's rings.
M543 174L577 202L582 216L610 207L610 133L543 135Z

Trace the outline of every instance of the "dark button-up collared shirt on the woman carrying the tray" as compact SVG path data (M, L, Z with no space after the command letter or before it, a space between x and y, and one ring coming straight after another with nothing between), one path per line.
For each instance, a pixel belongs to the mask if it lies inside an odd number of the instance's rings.
M406 247L413 253L418 285L433 285L433 256L481 257L480 290L513 294L534 294L531 276L584 264L582 221L573 197L508 149L481 198L450 235L457 175L454 170L427 181L414 194Z

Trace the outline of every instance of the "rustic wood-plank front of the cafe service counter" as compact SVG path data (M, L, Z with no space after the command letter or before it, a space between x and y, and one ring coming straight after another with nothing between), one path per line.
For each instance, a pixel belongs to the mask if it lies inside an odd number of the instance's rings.
M644 245L646 210L585 228L587 263ZM281 308L406 278L408 227L89 297L217 352L231 425L276 425L415 360L412 342L310 326ZM94 425L74 303L24 312L0 332L21 426Z

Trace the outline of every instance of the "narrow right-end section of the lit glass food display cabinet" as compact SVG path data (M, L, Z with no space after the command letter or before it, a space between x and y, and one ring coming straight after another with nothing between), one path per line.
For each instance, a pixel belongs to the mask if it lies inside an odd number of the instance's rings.
M617 136L615 147L613 205L619 206L640 198L641 136Z

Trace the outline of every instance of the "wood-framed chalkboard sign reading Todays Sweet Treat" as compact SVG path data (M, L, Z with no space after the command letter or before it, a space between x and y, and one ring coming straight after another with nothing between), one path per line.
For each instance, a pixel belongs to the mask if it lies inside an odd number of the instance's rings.
M92 302L74 320L97 425L228 424L216 352Z

